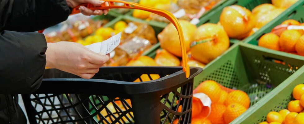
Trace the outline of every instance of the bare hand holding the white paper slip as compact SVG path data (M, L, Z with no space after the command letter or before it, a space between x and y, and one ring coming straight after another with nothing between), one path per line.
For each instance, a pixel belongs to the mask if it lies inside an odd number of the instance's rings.
M47 43L46 67L56 68L81 78L90 79L110 55L97 54L75 42Z

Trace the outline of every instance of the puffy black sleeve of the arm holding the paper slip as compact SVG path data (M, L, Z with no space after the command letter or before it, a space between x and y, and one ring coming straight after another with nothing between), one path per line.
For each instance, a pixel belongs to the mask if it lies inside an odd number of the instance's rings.
M0 33L0 94L28 94L37 90L46 64L44 35Z

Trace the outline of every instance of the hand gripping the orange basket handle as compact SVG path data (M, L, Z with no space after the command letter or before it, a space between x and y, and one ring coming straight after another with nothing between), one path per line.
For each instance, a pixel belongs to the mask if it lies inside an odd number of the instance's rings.
M96 7L100 7L101 4L103 4L104 2L105 1L101 1L101 0L66 0L66 3L71 8L75 8L83 3L91 3ZM109 2L105 2L105 5L109 6ZM109 9L93 11L84 6L80 6L79 10L83 15L102 15L102 14L107 15L109 12Z

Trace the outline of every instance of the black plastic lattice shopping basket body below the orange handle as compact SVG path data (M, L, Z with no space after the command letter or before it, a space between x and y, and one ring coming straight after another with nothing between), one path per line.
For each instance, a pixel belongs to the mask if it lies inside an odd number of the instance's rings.
M188 124L193 78L202 70L191 67L186 78L182 67L102 67L92 79L82 79L46 69L40 88L22 98L31 124L164 124L175 119ZM146 78L150 81L133 82Z

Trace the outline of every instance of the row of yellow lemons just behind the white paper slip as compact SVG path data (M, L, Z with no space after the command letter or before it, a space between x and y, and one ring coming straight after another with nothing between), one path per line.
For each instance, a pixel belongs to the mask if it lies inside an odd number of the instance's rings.
M83 46L90 45L96 42L102 42L111 36L118 34L119 32L123 32L124 29L127 28L127 23L124 21L118 21L114 25L114 29L110 27L100 27L96 30L94 35L88 36L85 40L78 40L77 42L82 44Z

